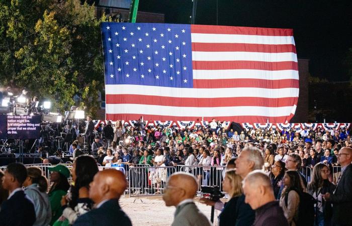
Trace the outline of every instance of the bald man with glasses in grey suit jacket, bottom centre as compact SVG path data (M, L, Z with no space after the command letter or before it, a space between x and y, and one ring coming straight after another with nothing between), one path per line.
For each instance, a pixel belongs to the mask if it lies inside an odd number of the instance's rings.
M172 226L210 225L209 219L193 202L197 189L198 184L192 174L172 174L162 196L166 206L176 206Z

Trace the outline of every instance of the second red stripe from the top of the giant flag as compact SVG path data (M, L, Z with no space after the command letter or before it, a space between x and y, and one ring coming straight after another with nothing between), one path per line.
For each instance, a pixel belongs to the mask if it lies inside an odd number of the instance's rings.
M260 53L296 53L294 45L268 45L246 43L192 43L192 51L203 52L260 52Z

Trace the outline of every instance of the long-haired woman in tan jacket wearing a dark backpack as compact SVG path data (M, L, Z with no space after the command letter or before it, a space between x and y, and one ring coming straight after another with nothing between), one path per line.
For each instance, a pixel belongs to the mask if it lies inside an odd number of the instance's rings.
M289 225L296 226L300 194L303 192L301 177L297 171L287 171L284 176L285 188L281 193L280 206Z

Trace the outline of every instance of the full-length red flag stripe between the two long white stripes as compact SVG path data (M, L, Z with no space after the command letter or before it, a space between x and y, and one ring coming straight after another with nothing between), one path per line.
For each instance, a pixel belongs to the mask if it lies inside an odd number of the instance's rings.
M230 93L229 93L230 95ZM245 94L244 94L245 95ZM298 97L265 98L265 97L221 97L221 98L183 98L167 96L147 96L136 94L107 94L107 104L146 104L182 107L226 107L226 106L265 106L283 107L297 104ZM245 121L241 121L245 122Z

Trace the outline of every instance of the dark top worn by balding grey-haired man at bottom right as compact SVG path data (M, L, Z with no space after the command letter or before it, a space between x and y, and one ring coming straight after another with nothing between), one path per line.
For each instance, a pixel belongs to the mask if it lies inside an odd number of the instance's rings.
M255 210L253 226L288 226L284 210L278 201L268 202Z

